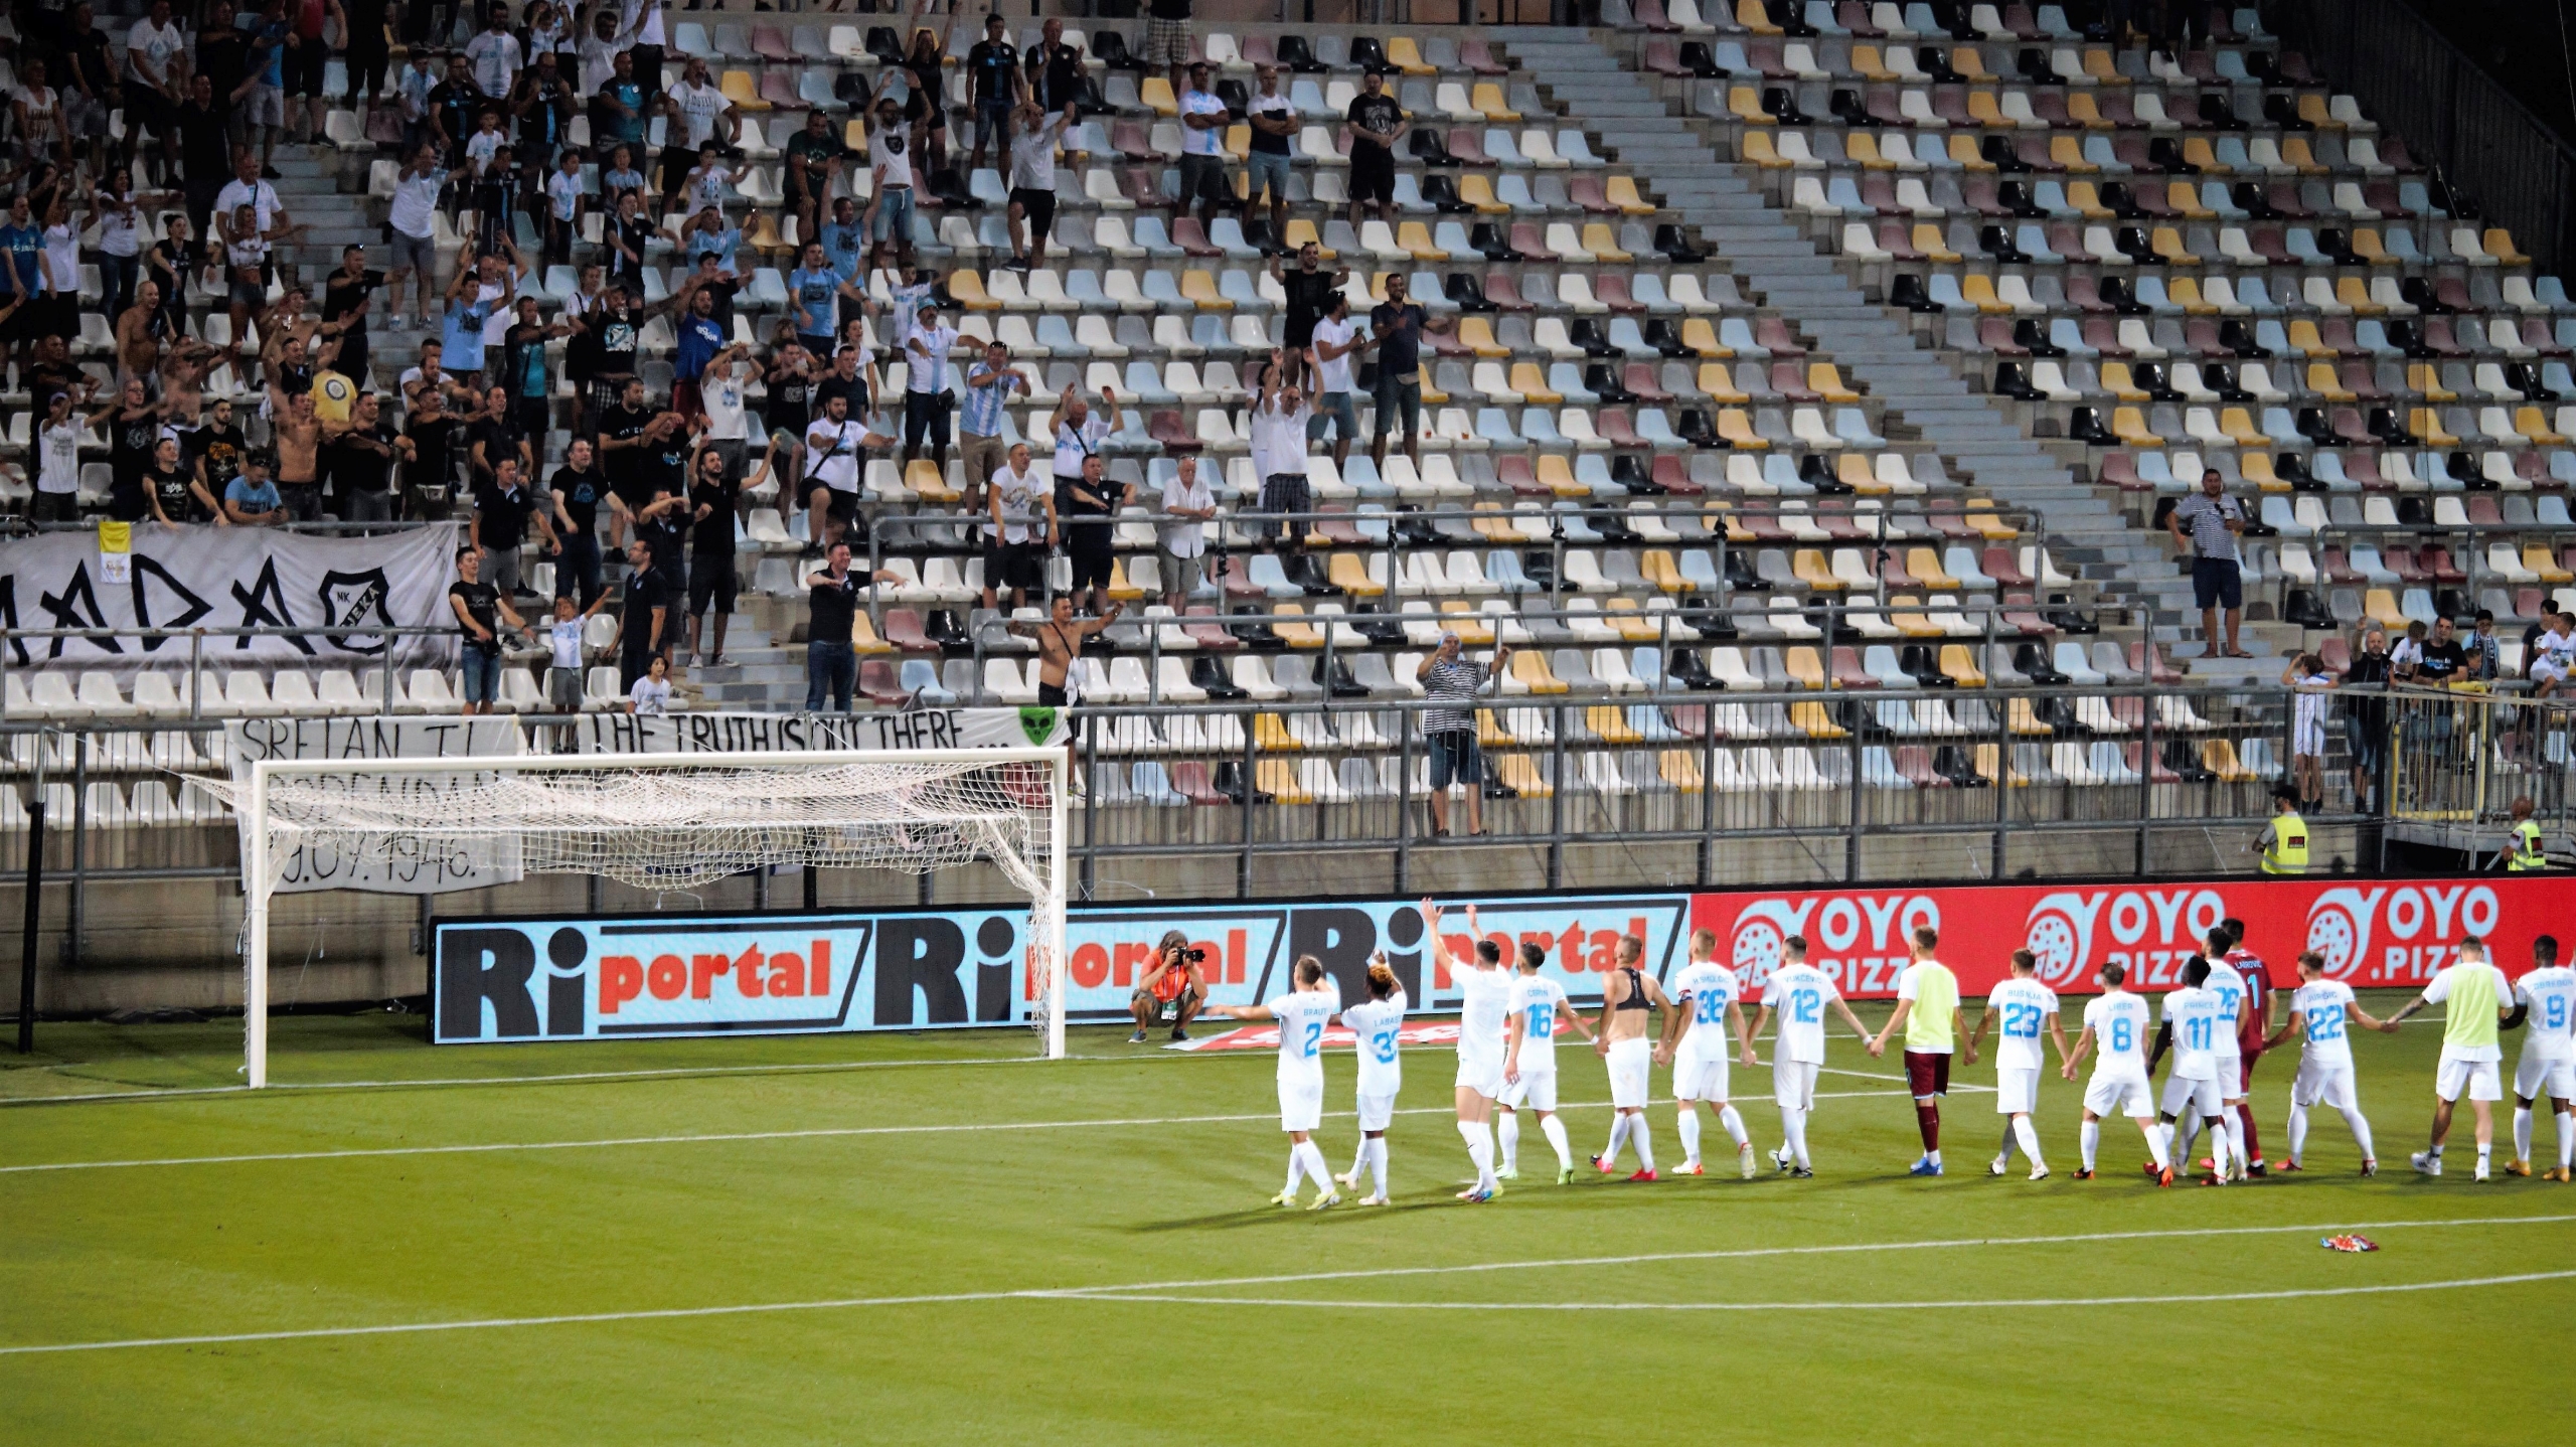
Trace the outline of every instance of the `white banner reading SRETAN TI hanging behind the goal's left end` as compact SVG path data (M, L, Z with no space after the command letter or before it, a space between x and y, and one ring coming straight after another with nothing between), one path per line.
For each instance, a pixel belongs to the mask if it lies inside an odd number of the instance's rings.
M224 760L234 780L260 760L474 760L523 754L518 718L234 718ZM386 778L384 788L443 788L440 778ZM247 829L247 821L245 821ZM247 845L247 839L245 839ZM250 857L247 850L242 857ZM278 893L363 888L371 893L448 893L518 883L515 850L466 850L453 839L392 837L366 852L296 845L278 865Z

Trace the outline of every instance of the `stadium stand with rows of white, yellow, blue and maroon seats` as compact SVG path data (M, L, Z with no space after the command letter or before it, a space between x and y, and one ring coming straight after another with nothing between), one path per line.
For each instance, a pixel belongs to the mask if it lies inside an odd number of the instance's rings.
M672 28L672 67L711 57L737 108L729 335L768 348L806 239L781 206L783 152L814 111L860 144L850 100L894 70L904 36L891 18L814 10L675 13ZM1010 31L1041 39L1023 18ZM2164 59L2081 39L2056 5L1824 0L1613 3L1600 31L1200 23L1193 57L1216 64L1236 121L1257 64L1283 70L1306 121L1288 234L1270 237L1262 209L1203 227L1177 203L1180 98L1128 59L1141 21L1064 21L1084 51L1084 113L1056 167L1046 263L1007 265L994 165L927 175L909 245L961 330L951 376L984 340L1033 373L1005 435L1036 438L1041 466L1061 389L1118 394L1103 453L1136 505L1115 523L1110 582L1128 610L1079 664L1095 798L1419 793L1417 721L1399 705L1453 628L1471 651L1520 649L1481 718L1497 796L2174 783L2239 788L2226 811L2246 814L2282 772L2277 695L2105 690L2269 685L2285 654L2339 662L2362 621L2535 618L2576 584L2563 288L2509 234L2455 221L2403 142L2308 75L2257 10L2213 13L2205 33ZM464 39L459 21L446 41ZM1337 116L1368 72L1406 121L1394 219L1355 227ZM940 75L958 157L969 77L956 57ZM345 95L337 75L327 90ZM652 118L654 154L670 124ZM278 149L273 185L307 227L278 247L283 268L314 281L340 245L381 245L399 136L386 106L335 108L325 139ZM567 139L587 144L590 116ZM1249 129L1224 144L1242 196ZM595 160L582 183L598 196ZM868 203L866 167L837 173L832 196ZM170 216L147 219L147 245ZM662 221L649 304L688 273L672 239L685 216ZM484 216L440 211L438 227L448 265ZM507 227L538 255L526 211ZM595 209L585 237L574 263L600 255ZM1252 520L1247 407L1283 330L1265 265L1280 239L1347 265L1355 312L1404 275L1453 322L1427 337L1414 448L1355 448L1340 466L1316 448L1314 512L1288 546ZM884 345L899 281L863 278L878 397L904 391ZM544 265L526 294L554 319L577 286L577 265ZM227 317L201 306L188 324L222 342ZM386 389L422 340L379 322L361 384ZM100 327L72 350L111 373ZM659 404L667 317L641 327L639 355ZM562 340L554 358L544 474L580 425ZM263 381L219 366L206 389L250 407ZM18 456L26 422L15 412ZM108 456L95 430L93 453ZM1172 613L1149 518L1182 456L1218 479L1221 518L1206 525L1211 579ZM2154 525L2202 466L2259 510L2246 639L2267 657L2251 664L2200 657L2184 564ZM863 705L1036 698L1030 644L979 608L963 507L979 484L961 458L871 453L860 561L894 582L858 615ZM23 497L23 474L13 487ZM685 669L690 708L804 698L814 548L793 492L747 494L732 662ZM546 592L533 543L523 564ZM1048 566L1048 592L1066 590L1069 561ZM531 657L513 659L502 705L544 713ZM585 705L621 708L616 682L595 667ZM459 705L435 669L245 669L193 687L147 672L126 690L36 669L8 690L8 718L46 721ZM193 808L93 788L108 793L90 814L118 824Z

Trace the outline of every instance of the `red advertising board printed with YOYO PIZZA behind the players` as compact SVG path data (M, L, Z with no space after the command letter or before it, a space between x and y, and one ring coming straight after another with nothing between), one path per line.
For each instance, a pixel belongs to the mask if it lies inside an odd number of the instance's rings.
M2463 935L2478 935L2506 976L2530 968L2535 935L2576 932L2576 878L2264 881L1814 888L1698 893L1692 927L1716 929L1718 958L1754 986L1780 963L1790 935L1808 960L1855 999L1893 999L1896 971L1917 924L1940 929L1940 958L1960 994L1986 994L2009 973L2012 950L2040 958L2040 981L2092 994L2094 971L2128 966L2130 989L2172 989L2182 960L2221 919L2246 922L2246 950L2293 984L2300 950L2354 989L2432 978Z

